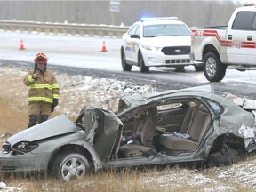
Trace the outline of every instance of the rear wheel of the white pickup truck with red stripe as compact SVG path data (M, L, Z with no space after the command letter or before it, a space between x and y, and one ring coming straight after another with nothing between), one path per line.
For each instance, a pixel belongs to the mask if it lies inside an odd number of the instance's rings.
M225 74L227 67L223 65L220 58L213 52L208 52L204 56L204 76L210 82L220 82Z

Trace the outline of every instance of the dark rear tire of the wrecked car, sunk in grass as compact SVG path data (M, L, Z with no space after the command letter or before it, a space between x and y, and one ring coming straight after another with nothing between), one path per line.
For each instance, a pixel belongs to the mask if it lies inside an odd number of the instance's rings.
M211 153L208 156L208 165L209 166L219 166L221 164L233 164L241 160L242 156L236 149L226 149L225 152L217 151Z

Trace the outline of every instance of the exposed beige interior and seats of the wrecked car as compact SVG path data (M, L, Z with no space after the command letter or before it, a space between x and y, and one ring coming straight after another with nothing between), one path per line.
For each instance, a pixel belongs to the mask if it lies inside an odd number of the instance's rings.
M211 114L199 100L172 100L121 121L123 142L118 158L159 152L176 155L199 146L211 125Z

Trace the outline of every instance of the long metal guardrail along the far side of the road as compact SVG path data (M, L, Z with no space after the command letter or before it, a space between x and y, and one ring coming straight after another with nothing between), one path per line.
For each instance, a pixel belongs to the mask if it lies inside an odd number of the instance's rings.
M116 36L122 35L128 30L126 26L108 26L95 24L76 24L76 23L51 23L35 22L22 20L0 20L0 29L16 31L36 31L54 34L71 34L81 36Z

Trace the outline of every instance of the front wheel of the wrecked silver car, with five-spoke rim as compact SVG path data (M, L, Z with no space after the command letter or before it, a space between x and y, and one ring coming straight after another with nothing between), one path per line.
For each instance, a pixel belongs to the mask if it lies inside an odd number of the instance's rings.
M53 176L60 180L74 180L84 177L90 172L90 165L86 157L76 152L63 153L56 156L52 164Z

